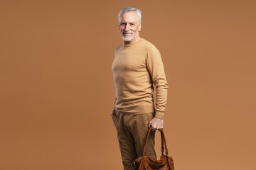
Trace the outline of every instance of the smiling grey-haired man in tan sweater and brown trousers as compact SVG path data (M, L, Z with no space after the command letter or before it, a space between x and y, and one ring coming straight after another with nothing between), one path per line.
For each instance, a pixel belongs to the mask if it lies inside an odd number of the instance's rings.
M116 98L112 120L117 129L124 169L141 156L146 133L151 126L146 155L156 159L155 130L164 127L168 83L159 50L140 38L142 13L137 8L124 7L119 11L119 30L124 44L114 50L112 71ZM156 86L156 109L154 86Z

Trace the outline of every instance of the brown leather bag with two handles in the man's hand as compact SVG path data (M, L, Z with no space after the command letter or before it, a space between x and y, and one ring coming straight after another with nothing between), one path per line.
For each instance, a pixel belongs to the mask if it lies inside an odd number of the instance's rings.
M164 136L164 131L161 130L161 157L160 160L152 159L151 157L146 156L146 146L149 139L149 134L151 132L151 127L146 136L146 143L144 146L143 154L141 157L138 157L134 162L129 166L129 170L174 170L174 161L172 157L168 156L168 149L166 145L166 139ZM164 146L166 149L166 155L164 155Z

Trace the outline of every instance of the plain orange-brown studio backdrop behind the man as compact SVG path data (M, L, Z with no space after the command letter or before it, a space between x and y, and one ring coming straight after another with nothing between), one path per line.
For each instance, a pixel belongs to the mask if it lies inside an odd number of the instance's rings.
M1 1L0 169L122 169L109 114L124 6L164 61L176 169L256 169L255 5Z

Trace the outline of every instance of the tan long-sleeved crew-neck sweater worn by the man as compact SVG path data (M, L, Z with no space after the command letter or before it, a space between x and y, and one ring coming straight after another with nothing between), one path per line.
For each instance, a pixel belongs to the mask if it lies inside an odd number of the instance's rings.
M114 107L129 114L156 111L155 118L164 118L168 83L159 50L141 38L133 44L119 45L112 64L116 100ZM153 83L156 86L154 107Z

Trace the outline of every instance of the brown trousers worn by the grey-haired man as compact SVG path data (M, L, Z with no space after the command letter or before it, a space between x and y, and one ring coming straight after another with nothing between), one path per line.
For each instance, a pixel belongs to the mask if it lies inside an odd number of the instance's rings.
M142 156L146 135L149 130L149 121L154 118L154 114L132 115L115 110L114 115L112 115L114 127L117 130L117 139L119 141L124 170L128 169L134 159ZM154 150L155 132L151 131L146 150L146 155L153 159L156 159L156 152Z

